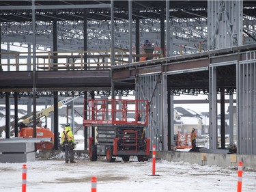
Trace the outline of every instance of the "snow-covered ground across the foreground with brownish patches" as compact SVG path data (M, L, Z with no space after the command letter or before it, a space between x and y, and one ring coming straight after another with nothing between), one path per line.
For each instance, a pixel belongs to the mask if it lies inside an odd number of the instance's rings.
M63 155L63 154L62 154ZM63 159L28 162L28 192L91 191L91 177L97 177L98 192L195 192L237 191L237 168L156 161L156 175L152 176L152 162L138 162L130 157L124 163L117 159L108 163L101 159L91 162L88 157L76 157L76 163ZM0 163L0 191L20 192L23 163ZM245 169L242 191L255 191L256 170ZM4 190L3 190L4 189Z

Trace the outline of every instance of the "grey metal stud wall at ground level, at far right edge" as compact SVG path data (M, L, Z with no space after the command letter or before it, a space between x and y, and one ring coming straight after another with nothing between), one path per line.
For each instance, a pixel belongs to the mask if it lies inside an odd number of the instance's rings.
M238 152L256 154L256 52L238 64Z

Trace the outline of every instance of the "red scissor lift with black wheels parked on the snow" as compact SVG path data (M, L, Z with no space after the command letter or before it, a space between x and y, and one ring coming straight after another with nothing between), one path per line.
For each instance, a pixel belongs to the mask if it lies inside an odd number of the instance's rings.
M89 156L96 161L106 156L106 161L115 161L116 156L129 161L137 156L138 161L147 161L150 155L150 139L145 138L149 102L147 100L85 100L83 125L91 126Z

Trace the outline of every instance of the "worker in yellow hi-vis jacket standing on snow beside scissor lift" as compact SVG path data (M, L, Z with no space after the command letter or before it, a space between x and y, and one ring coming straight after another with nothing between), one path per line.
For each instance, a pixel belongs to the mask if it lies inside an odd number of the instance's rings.
M66 124L65 131L61 133L61 143L65 148L65 161L68 163L76 163L74 161L74 135L71 131L70 124Z

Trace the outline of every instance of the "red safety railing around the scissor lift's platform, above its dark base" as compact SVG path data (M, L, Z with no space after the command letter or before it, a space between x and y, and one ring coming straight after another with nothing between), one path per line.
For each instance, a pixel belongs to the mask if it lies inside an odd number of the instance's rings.
M92 124L123 124L123 125L147 125L148 100L85 100L83 125Z

